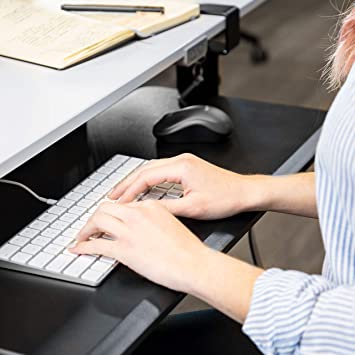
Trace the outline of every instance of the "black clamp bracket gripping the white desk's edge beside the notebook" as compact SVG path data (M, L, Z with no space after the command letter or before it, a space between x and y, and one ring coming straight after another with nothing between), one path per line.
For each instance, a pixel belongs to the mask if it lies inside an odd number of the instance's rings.
M240 41L240 11L236 6L201 4L200 12L203 15L216 15L225 17L224 43L211 41L209 49L215 53L226 55L235 48Z

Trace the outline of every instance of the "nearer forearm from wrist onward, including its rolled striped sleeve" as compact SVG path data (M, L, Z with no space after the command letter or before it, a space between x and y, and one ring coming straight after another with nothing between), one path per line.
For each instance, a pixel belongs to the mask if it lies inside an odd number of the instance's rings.
M264 271L211 249L186 290L232 319L267 354L354 353L355 288L299 271ZM323 339L321 342L314 342Z

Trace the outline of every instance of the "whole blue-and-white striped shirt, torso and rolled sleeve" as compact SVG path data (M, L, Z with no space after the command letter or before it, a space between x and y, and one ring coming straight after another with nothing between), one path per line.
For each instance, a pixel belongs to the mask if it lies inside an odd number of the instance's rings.
M322 276L274 268L257 279L243 331L265 354L355 354L355 65L327 115L315 171Z

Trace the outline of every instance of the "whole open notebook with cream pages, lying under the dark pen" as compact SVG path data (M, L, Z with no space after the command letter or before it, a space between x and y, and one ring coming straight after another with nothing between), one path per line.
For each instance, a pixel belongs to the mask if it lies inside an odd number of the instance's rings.
M191 0L68 0L69 3L163 6L164 14L67 12L63 0L0 0L0 55L58 69L134 37L199 15Z

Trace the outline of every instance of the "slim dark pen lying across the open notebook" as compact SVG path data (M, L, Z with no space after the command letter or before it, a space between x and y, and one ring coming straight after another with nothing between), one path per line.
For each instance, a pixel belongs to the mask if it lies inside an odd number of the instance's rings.
M100 4L63 4L66 11L104 11L104 12L159 12L164 14L162 6L130 6L130 5L100 5Z

